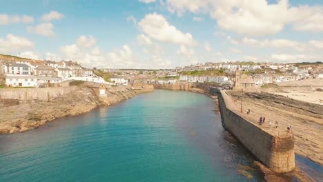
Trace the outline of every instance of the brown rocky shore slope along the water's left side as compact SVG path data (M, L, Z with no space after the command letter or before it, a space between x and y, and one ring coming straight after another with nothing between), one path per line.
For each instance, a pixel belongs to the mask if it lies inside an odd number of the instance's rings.
M107 97L101 98L92 88L74 87L50 101L0 99L0 134L39 128L48 121L89 112L99 105L113 105L146 91L151 90L108 88Z

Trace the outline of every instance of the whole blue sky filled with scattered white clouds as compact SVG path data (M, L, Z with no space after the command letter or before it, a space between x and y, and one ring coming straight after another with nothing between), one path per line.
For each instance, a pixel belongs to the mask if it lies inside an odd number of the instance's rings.
M0 0L0 54L87 68L323 61L323 0Z

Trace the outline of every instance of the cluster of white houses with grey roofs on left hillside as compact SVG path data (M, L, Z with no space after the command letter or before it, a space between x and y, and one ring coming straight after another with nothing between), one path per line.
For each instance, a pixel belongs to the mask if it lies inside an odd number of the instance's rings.
M71 78L93 77L92 70L72 61L0 60L0 74L6 85L35 87L42 83L59 83Z

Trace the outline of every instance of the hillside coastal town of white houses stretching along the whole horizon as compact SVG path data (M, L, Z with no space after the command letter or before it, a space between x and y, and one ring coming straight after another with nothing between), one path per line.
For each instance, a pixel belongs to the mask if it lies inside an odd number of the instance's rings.
M199 63L169 70L84 68L77 61L33 60L0 56L1 87L57 87L68 80L107 85L130 83L214 83L231 90L323 78L323 63Z

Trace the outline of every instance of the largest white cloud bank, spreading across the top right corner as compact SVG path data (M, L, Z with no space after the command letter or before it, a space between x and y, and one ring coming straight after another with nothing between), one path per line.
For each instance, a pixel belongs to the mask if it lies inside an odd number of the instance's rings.
M222 30L264 36L280 32L291 24L294 30L323 32L323 6L291 6L288 0L166 0L167 9L211 14Z

